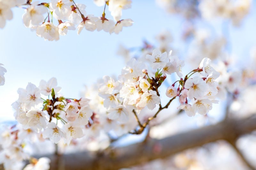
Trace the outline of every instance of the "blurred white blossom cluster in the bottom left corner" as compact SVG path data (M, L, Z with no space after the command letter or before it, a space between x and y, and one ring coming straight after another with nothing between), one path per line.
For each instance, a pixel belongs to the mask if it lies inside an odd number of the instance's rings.
M22 125L14 126L4 125L0 128L0 164L4 165L4 169L22 169L24 167L23 160L30 160L25 170L48 170L50 168L50 159L43 157L35 159L30 156L27 145L32 141L39 142L40 136L34 133L33 129L23 129Z

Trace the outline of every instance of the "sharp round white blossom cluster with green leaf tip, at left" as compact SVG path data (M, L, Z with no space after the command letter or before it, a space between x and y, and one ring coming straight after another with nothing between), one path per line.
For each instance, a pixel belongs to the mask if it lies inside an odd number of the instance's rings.
M28 83L26 89L18 89L19 99L12 107L16 111L16 120L24 129L42 132L43 138L49 138L54 143L64 138L69 144L72 139L84 136L83 128L88 124L92 110L88 107L88 99L66 99L59 92L56 78L48 82L42 80L39 87ZM52 99L44 100L41 94L51 95ZM58 125L58 120L64 125Z

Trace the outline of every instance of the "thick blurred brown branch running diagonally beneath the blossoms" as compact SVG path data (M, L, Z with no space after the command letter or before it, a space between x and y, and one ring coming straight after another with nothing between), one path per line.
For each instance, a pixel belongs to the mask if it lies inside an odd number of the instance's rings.
M153 159L166 158L183 150L202 146L217 140L234 143L236 139L256 129L256 117L226 119L215 125L191 130L164 139L149 138L145 142L104 152L80 152L48 155L51 169L105 170L130 167Z

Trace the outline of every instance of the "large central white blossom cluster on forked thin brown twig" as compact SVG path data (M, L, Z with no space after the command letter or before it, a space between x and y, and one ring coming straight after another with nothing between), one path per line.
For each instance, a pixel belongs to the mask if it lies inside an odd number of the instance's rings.
M220 74L213 69L209 58L204 58L198 68L185 76L182 74L183 66L184 61L172 56L172 51L167 55L167 52L154 49L151 55L147 54L139 60L132 58L127 62L117 79L104 76L98 85L94 85L98 88L94 92L88 90L90 94L87 93L86 97L91 99L90 106L101 117L100 121L105 119L108 124L108 128L104 129L114 131L118 136L134 128L133 115L136 118L148 110L167 108L176 97L179 97L181 105L178 108L185 110L189 116L196 113L205 115L212 109L212 103L217 103L219 84L215 80ZM174 72L180 80L166 88L165 95L170 101L164 107L158 88ZM140 120L137 121L140 123ZM122 132L120 128L117 130L116 124L122 125ZM139 125L143 128L147 123Z

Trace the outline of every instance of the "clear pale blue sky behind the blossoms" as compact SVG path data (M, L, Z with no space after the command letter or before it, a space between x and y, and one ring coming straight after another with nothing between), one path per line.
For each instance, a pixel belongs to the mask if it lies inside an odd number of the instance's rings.
M79 2L84 1L76 1ZM101 15L104 7L97 7L92 0L85 2L87 14ZM28 82L38 86L41 79L47 81L55 77L65 97L79 98L84 85L91 85L104 75L120 74L124 66L122 57L116 55L120 43L131 48L140 46L143 39L155 42L156 34L167 29L174 36L174 46L178 46L180 28L184 24L179 16L166 14L155 1L134 0L132 8L124 10L122 17L131 18L134 24L118 35L84 29L80 35L70 31L59 41L50 42L23 26L23 9L13 8L12 11L13 19L0 30L0 63L7 69L5 85L0 86L2 121L13 119L10 105L18 99L17 89L26 88ZM109 12L107 17L111 17ZM255 18L254 11L242 27L229 28L233 51L238 55L248 55L254 45Z

